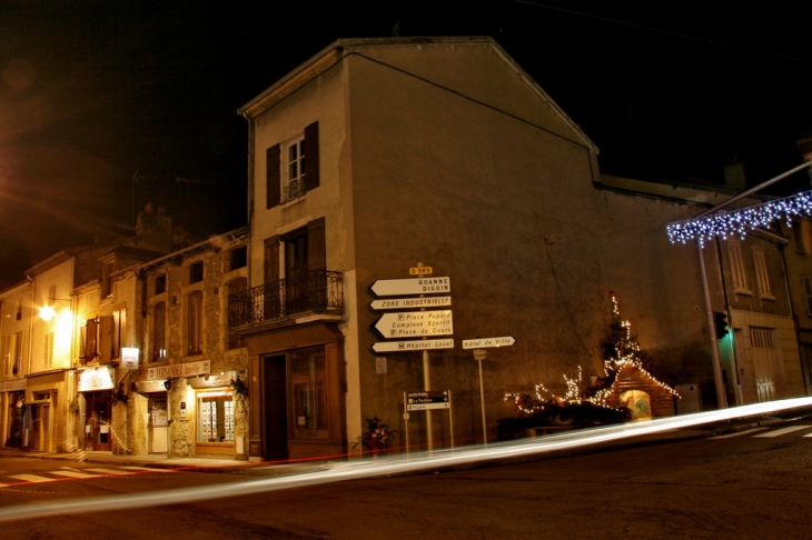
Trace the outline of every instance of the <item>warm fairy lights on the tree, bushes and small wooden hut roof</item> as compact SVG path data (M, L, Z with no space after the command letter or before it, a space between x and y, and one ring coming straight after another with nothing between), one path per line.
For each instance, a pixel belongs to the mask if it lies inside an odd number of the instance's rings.
M624 368L637 369L644 377L646 377L653 384L662 388L670 392L672 396L680 398L680 394L667 386L666 383L657 380L648 370L643 367L643 361L640 358L640 343L632 337L632 323L630 321L620 320L621 312L617 306L617 298L614 292L610 292L610 300L612 302L612 316L614 320L620 321L621 328L623 329L623 336L612 343L613 353L611 358L604 360L603 369L606 379L616 377ZM504 396L505 401L512 401L516 410L522 414L533 414L542 412L546 409L547 403L573 403L581 404L583 402L590 402L597 407L606 409L617 409L610 404L610 397L615 392L614 384L597 389L592 396L584 397L581 388L583 383L583 369L578 366L577 374L575 377L568 377L566 373L563 374L566 391L564 397L557 397L547 390L544 384L538 383L535 386L535 396L531 397L522 393L506 393Z

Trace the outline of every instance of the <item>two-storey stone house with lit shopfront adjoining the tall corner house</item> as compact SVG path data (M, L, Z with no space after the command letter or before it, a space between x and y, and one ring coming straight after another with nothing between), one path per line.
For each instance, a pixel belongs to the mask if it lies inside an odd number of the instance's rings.
M228 298L247 287L246 230L132 269L140 362L126 369L117 453L246 459L247 353Z

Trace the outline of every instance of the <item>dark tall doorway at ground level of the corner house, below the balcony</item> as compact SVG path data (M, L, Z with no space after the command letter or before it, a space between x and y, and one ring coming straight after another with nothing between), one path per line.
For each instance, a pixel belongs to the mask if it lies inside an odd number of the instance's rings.
M287 360L285 354L263 362L263 457L288 459Z

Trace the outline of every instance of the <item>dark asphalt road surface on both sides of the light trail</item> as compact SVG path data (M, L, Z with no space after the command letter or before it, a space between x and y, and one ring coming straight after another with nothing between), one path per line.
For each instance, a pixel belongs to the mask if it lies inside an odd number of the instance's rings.
M789 431L786 428L798 428ZM786 431L780 431L786 430ZM775 434L775 437L763 437ZM365 479L151 508L4 522L0 539L49 538L812 538L812 421L733 437L455 472ZM757 436L757 437L756 437ZM24 463L28 461L29 463ZM254 482L267 470L121 469L14 483L82 463L0 460L0 504ZM20 463L22 462L22 463ZM13 480L13 478L12 478Z

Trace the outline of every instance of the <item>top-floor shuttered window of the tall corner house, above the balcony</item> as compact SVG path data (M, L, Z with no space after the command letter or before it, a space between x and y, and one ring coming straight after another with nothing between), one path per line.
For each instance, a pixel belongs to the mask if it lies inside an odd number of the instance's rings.
M266 150L267 208L301 197L319 186L318 122Z

